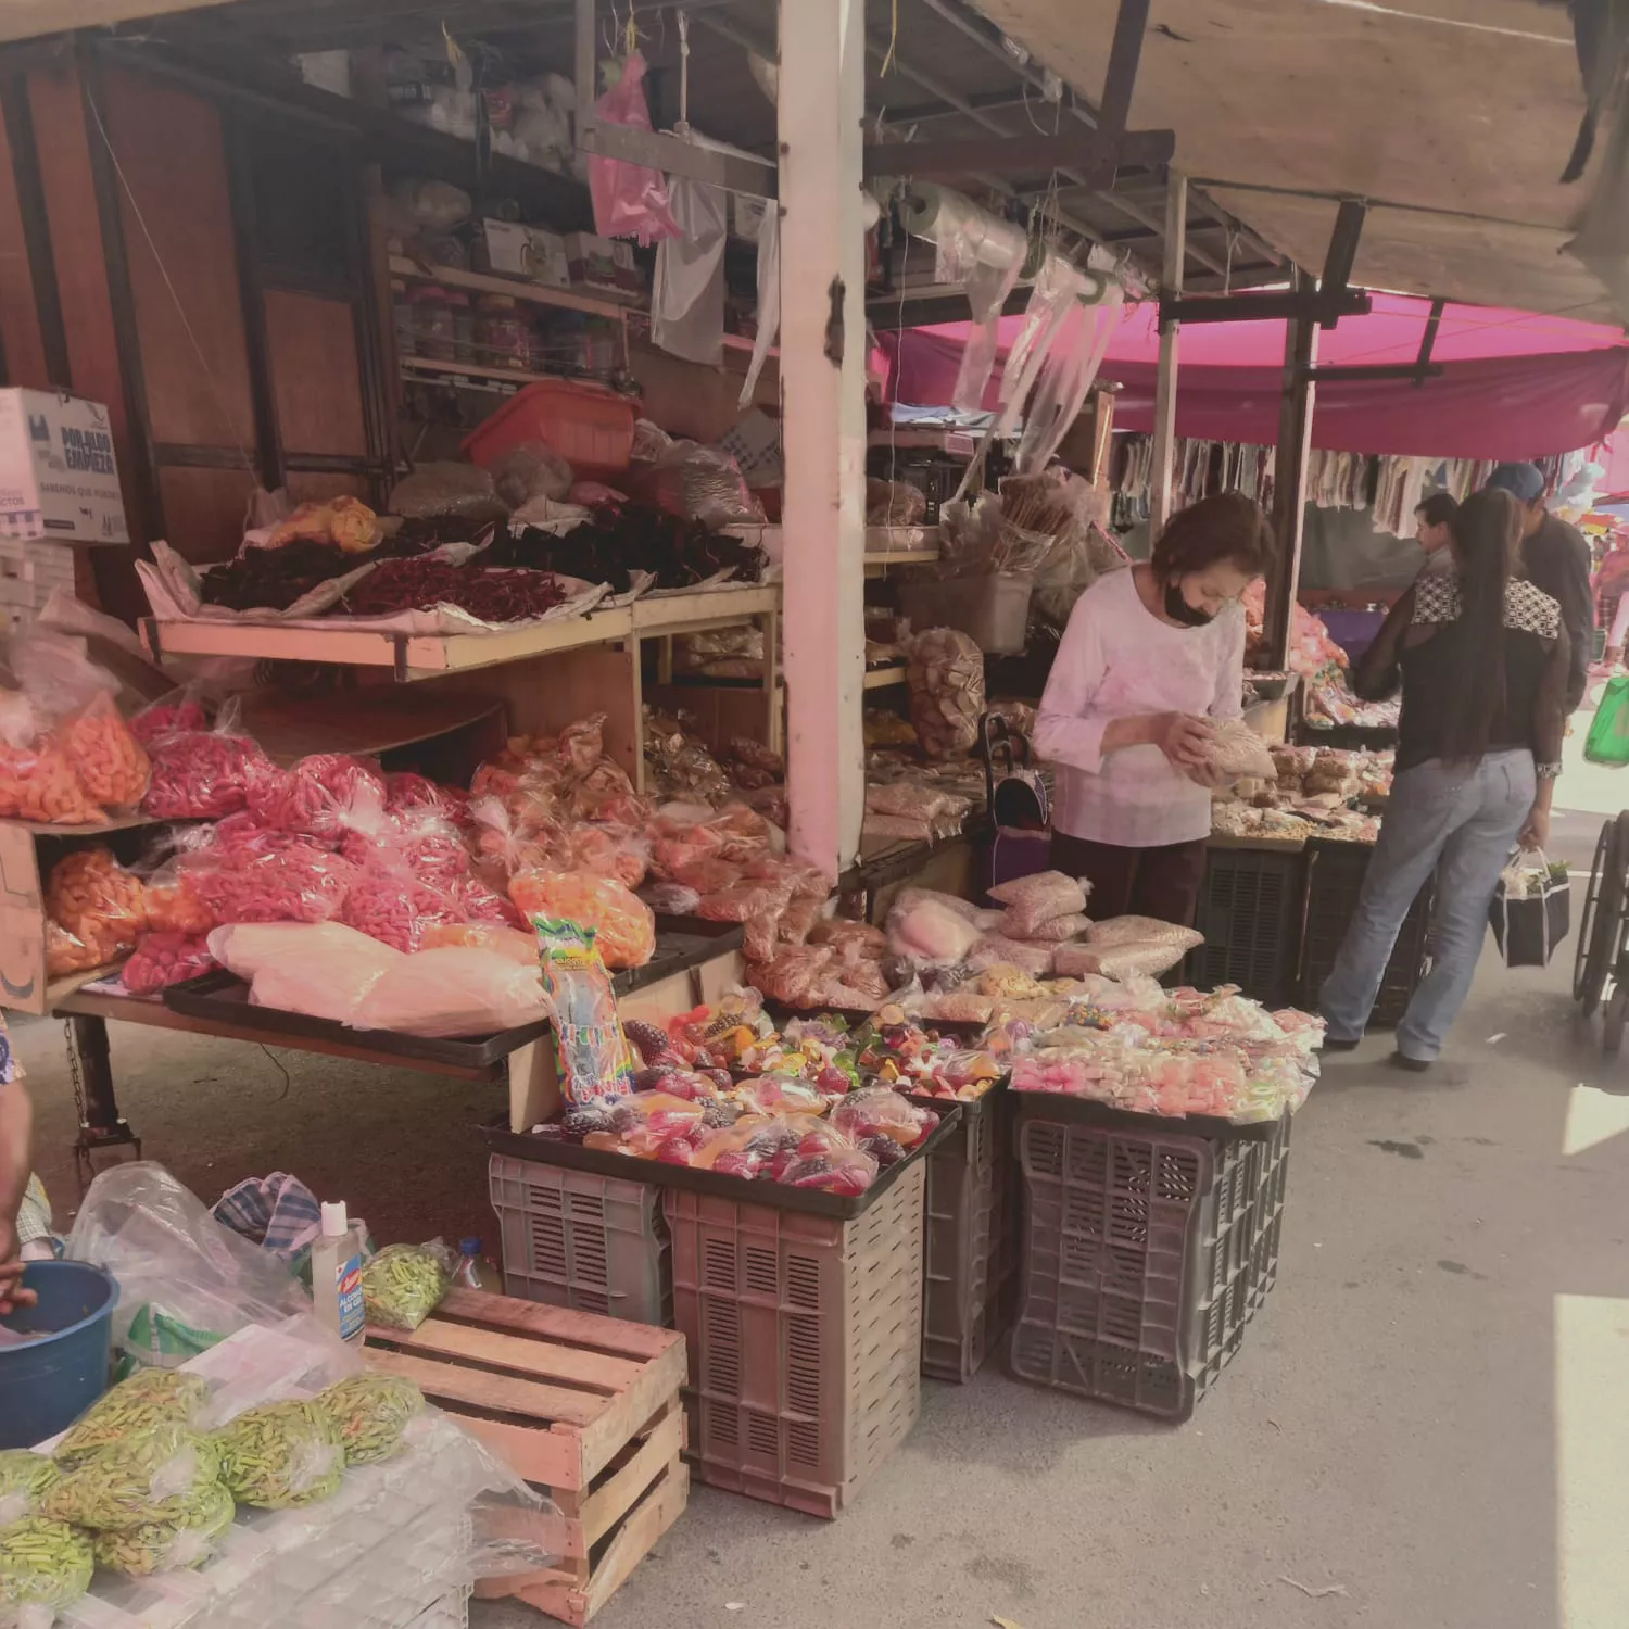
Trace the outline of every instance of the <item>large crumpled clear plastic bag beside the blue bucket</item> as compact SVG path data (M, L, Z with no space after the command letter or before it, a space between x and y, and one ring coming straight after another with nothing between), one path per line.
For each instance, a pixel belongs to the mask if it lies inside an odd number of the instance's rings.
M246 1324L311 1310L310 1295L280 1261L222 1227L150 1160L114 1166L91 1183L67 1253L119 1280L114 1344L151 1365L173 1367Z

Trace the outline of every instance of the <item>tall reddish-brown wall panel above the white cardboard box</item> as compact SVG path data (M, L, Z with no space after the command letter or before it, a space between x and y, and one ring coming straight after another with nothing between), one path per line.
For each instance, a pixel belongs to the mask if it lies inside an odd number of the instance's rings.
M148 75L111 68L103 85L103 119L129 186L121 210L153 440L252 448L220 116Z

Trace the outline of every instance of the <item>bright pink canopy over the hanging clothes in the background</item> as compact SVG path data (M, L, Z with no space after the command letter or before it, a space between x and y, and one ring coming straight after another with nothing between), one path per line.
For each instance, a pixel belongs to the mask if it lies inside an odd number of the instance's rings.
M1419 353L1430 303L1375 295L1370 316L1318 336L1328 365L1406 363ZM1023 324L1002 318L1002 357ZM969 324L883 334L891 401L948 402ZM1189 324L1176 381L1176 432L1212 441L1277 440L1284 323ZM1114 422L1153 428L1158 308L1126 306L1103 378L1121 383ZM1318 386L1313 445L1349 453L1438 458L1541 458L1590 446L1629 412L1629 345L1616 327L1533 311L1450 305L1432 360L1445 371L1407 380L1331 380ZM995 404L995 378L986 406Z

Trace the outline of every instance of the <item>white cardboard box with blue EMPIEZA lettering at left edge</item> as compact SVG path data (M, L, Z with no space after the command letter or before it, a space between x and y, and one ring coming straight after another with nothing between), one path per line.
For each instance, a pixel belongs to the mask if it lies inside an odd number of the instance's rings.
M130 541L106 407L0 389L0 538Z

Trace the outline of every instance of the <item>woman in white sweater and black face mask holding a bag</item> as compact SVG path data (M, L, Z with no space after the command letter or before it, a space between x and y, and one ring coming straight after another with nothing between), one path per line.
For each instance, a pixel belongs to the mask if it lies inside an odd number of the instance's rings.
M1261 505L1220 492L1153 555L1075 603L1034 722L1056 766L1054 870L1091 881L1091 914L1189 925L1210 834L1210 718L1238 718L1240 595L1272 559Z

